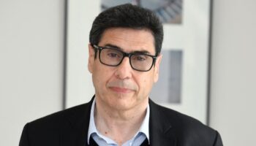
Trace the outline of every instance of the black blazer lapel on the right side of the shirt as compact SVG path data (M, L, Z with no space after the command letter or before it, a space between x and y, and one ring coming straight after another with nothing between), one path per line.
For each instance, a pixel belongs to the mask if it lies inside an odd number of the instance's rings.
M165 115L165 110L149 100L149 141L150 145L176 146L177 139L170 124L170 119Z

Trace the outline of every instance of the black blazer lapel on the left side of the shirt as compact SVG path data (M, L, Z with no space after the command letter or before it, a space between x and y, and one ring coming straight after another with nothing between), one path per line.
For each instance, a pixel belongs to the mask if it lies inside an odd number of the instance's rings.
M88 104L83 104L80 109L72 111L67 117L67 125L63 129L63 146L87 146L87 134L90 121L91 104L94 97Z

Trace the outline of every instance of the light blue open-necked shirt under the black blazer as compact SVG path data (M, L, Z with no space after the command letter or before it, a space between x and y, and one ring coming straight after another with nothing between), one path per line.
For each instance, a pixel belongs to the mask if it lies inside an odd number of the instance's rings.
M97 131L97 128L94 122L94 108L95 108L95 99L91 105L91 115L90 115L90 123L89 123L88 137L87 137L88 144L89 144L90 137L92 137L94 141L100 146L118 146L118 144L115 141L113 141L113 139L105 137L104 135L100 134L99 131ZM129 139L127 142L124 142L122 146L138 146L138 145L141 145L145 139L148 139L148 144L149 144L149 132L148 132L149 125L148 124L149 124L149 105L146 109L146 116L137 134L135 134L135 137L133 137L132 139Z

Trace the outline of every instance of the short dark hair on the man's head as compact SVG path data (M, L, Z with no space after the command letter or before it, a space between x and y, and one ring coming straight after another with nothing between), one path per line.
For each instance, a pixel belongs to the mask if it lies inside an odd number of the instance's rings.
M95 18L90 31L89 41L98 45L102 34L108 28L148 29L154 37L156 55L161 52L163 28L162 23L149 9L132 4L121 4L99 13Z

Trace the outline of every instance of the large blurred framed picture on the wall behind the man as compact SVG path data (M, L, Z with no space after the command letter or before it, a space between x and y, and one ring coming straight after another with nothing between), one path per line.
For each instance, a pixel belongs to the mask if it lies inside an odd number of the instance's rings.
M89 31L104 9L132 3L154 11L164 24L159 81L150 98L207 123L210 0L67 1L65 107L94 95L87 70Z

